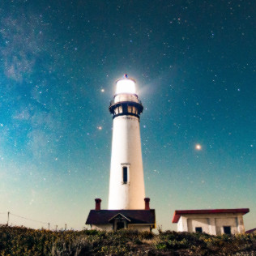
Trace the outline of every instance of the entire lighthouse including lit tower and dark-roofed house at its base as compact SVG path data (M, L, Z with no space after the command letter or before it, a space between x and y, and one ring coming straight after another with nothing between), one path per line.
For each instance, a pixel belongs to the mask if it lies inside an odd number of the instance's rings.
M96 198L95 209L89 212L86 224L105 231L151 231L156 228L156 212L149 206L150 198L145 198L139 131L143 105L136 83L128 75L117 80L109 112L113 115L109 207L101 209L101 199Z

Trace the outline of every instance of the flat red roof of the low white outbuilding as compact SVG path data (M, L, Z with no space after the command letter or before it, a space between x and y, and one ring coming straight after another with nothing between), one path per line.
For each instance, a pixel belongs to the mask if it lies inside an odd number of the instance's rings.
M216 214L216 213L242 213L243 215L250 210L248 208L241 209L211 209L211 210L176 210L173 215L173 223L180 220L181 215L185 214Z

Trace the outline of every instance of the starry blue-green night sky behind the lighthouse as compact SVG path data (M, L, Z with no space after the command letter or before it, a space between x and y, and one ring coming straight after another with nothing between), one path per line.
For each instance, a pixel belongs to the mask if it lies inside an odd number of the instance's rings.
M248 207L255 228L255 11L250 0L2 0L0 222L10 211L10 224L81 229L94 198L107 208L109 100L127 73L156 225L176 230L175 210Z

